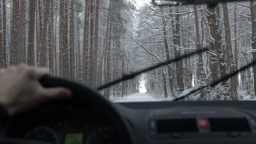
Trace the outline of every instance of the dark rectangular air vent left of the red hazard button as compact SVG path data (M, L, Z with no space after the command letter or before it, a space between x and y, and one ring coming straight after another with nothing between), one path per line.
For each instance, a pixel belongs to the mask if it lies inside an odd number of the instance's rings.
M156 126L158 134L198 132L195 118L158 119Z

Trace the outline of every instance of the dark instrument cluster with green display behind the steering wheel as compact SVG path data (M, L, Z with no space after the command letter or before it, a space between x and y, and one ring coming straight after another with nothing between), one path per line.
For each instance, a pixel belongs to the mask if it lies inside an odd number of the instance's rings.
M13 117L6 136L49 144L116 144L113 128L99 111L67 102Z

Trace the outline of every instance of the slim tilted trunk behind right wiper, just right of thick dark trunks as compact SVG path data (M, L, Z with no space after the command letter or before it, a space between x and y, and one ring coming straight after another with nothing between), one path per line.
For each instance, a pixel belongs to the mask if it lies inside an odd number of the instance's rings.
M229 27L229 13L228 13L227 3L223 4L223 15L224 15L225 37L227 41L229 71L234 72L235 62L233 59L233 52L232 52L231 33L230 33L230 27ZM231 84L231 99L238 99L237 81L235 77L230 78L230 84Z

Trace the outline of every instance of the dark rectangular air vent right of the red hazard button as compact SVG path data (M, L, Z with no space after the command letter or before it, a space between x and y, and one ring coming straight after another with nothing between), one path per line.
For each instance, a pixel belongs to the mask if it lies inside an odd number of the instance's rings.
M209 118L212 132L250 132L246 118Z

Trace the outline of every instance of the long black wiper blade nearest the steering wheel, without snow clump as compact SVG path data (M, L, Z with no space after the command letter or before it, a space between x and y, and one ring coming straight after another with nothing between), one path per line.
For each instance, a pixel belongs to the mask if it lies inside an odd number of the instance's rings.
M100 86L100 87L97 88L97 89L98 89L98 90L106 89L106 88L108 88L108 87L110 87L110 86L112 86L112 85L114 85L114 84L117 84L117 83L119 83L119 82L121 82L121 81L126 81L126 80L129 80L129 79L135 78L137 75L140 75L141 73L144 73L144 72L148 72L148 71L157 69L157 68L159 68L159 67L161 67L161 66L165 66L165 65L167 65L167 64L174 63L174 62L180 61L180 60L182 60L182 59L184 59L184 58L188 58L188 57L191 57L191 56L193 56L193 55L195 55L195 54L200 54L200 53L206 52L206 51L208 51L208 48L203 48L203 49L197 50L197 51L195 51L195 52L191 52L191 53L189 53L189 54L184 54L184 55L182 55L182 56L176 57L176 58L174 58L174 59L172 59L172 60L169 60L169 61L166 61L166 62L163 62L163 63L156 64L156 65L154 65L154 66L145 68L145 69L140 70L140 71L137 71L137 72L131 72L130 74L123 74L123 76L122 76L121 78L119 78L119 79L117 79L117 80L114 80L114 81L112 81L112 82L106 83L106 84Z

